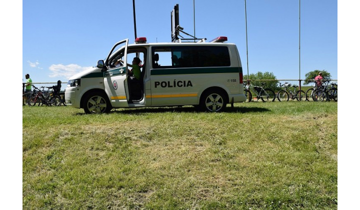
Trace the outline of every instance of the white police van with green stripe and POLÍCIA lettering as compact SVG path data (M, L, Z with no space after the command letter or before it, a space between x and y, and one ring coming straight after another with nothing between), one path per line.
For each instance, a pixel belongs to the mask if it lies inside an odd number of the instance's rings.
M217 112L245 101L237 47L219 36L205 42L146 43L138 37L117 42L97 66L71 76L66 105L85 113L112 108L194 105ZM140 58L138 79L130 74Z

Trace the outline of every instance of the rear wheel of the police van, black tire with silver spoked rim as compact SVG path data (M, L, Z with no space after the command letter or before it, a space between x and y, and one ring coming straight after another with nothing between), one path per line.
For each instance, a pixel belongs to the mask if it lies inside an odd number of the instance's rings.
M226 96L223 91L209 89L203 93L199 105L204 111L219 112L226 107L226 104Z

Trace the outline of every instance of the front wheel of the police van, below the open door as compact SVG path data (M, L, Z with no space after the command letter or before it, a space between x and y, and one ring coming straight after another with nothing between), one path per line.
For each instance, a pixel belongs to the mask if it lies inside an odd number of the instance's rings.
M87 94L84 98L82 107L85 113L106 113L112 108L106 94L101 91Z

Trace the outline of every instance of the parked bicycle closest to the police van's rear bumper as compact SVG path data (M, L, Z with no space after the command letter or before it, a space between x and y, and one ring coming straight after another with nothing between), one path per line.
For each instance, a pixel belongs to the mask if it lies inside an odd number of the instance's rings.
M265 84L265 82L262 82L262 86L255 86L251 85L250 82L247 81L246 85L244 85L244 94L246 95L246 101L250 102L252 100L251 91L256 94L257 100L261 99L263 102L274 101L275 92L270 88L263 88Z

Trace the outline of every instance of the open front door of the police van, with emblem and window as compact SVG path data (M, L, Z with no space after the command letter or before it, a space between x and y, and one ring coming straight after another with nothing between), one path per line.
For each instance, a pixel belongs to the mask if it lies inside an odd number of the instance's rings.
M109 52L104 71L105 92L109 97L110 103L114 107L128 106L129 91L127 88L127 44L128 39L117 42ZM123 63L115 65L115 62L121 59Z

